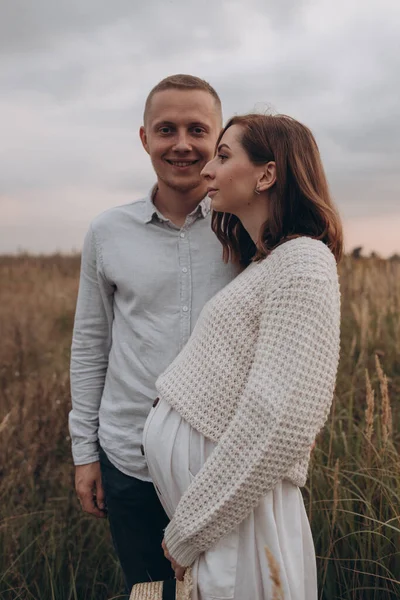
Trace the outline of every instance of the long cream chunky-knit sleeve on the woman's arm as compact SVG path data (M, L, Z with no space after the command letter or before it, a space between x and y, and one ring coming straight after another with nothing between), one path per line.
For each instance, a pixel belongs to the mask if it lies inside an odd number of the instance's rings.
M339 358L336 277L294 274L266 294L254 360L235 417L165 530L189 566L307 458L332 403Z

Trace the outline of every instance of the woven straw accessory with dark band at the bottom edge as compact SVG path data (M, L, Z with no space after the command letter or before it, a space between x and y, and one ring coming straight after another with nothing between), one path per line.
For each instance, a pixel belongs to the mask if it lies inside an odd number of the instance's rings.
M150 581L133 586L129 600L191 600L192 572L186 569L183 581Z

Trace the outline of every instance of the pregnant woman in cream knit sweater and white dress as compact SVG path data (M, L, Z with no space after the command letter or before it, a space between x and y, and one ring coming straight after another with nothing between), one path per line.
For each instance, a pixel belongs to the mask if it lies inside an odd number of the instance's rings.
M202 175L224 258L247 268L157 380L144 447L164 551L177 578L192 566L194 600L272 598L273 564L285 600L314 600L299 487L335 386L340 219L311 132L287 116L231 119Z

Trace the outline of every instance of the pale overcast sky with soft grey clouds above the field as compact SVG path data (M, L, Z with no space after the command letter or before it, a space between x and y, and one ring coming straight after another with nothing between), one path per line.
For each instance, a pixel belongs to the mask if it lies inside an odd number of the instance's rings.
M80 249L144 196L150 89L191 73L224 118L308 125L347 249L400 252L399 0L0 0L0 253Z

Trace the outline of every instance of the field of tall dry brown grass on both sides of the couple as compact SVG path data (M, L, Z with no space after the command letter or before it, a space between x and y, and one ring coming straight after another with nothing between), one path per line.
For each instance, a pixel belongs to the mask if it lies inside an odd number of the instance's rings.
M0 257L0 598L122 597L107 524L73 490L68 366L79 257ZM304 496L320 598L400 598L400 262L341 265L334 406ZM247 599L243 599L247 600ZM251 599L248 599L251 600Z

